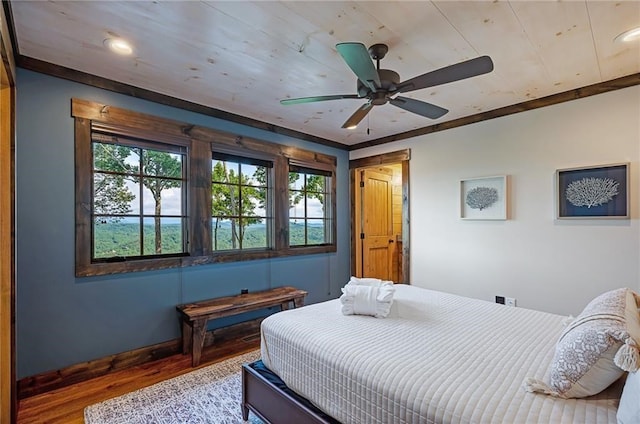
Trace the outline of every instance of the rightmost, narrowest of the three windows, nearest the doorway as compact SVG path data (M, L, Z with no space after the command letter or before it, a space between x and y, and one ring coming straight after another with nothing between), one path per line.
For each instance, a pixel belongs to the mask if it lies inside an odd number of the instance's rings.
M289 166L290 246L331 243L330 187L330 172Z

